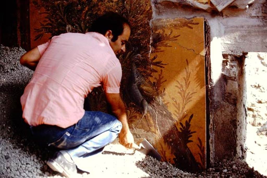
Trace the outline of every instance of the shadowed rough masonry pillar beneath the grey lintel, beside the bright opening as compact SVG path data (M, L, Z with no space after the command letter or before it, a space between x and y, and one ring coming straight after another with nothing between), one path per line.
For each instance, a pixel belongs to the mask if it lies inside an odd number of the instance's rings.
M212 163L232 157L245 158L245 54L223 57L227 60L223 60L222 75L209 93Z

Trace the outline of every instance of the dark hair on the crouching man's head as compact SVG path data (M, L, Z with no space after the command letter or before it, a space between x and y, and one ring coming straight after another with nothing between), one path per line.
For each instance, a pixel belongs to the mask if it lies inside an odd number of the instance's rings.
M108 30L111 30L113 35L111 41L115 42L118 39L118 36L123 33L125 24L130 27L130 24L126 18L124 18L120 14L109 11L104 15L98 17L96 21L93 22L90 31L105 35Z

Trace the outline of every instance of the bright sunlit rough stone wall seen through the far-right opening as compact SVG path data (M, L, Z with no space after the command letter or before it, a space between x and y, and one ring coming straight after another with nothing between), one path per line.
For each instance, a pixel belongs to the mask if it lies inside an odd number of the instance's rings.
M246 162L267 175L267 53L249 52L245 60L247 87ZM260 164L259 164L260 163Z

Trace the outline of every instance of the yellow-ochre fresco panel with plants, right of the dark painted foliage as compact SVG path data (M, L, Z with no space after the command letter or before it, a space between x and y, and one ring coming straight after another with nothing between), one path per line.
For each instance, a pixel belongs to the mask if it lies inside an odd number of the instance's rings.
M204 19L160 19L152 22L152 30L150 57L162 65L152 64L157 72L150 79L157 84L162 102L171 113L171 118L165 118L170 128L159 130L177 132L168 134L175 139L174 143L170 138L170 142L161 138L156 147L164 152L164 160L180 168L203 169L206 167ZM165 134L162 132L161 137ZM183 159L191 164L190 168L181 165L185 164Z

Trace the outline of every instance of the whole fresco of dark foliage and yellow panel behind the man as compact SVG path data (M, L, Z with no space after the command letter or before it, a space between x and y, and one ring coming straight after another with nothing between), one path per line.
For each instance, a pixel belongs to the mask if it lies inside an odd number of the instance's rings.
M203 19L149 22L149 0L31 0L32 47L54 35L85 33L106 11L129 19L121 97L137 143L146 138L177 167L205 168L205 62ZM151 38L152 37L152 38ZM109 112L101 87L85 99L85 109Z

